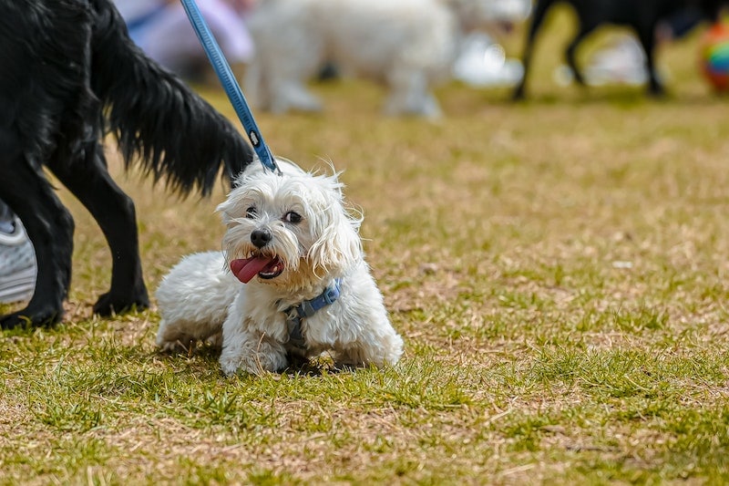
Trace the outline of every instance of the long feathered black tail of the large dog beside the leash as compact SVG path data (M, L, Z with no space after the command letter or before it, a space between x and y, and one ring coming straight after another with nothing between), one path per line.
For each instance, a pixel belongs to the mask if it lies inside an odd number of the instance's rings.
M91 88L127 167L140 160L155 181L182 194L210 193L223 165L232 180L252 149L231 122L145 56L110 0L92 0Z

